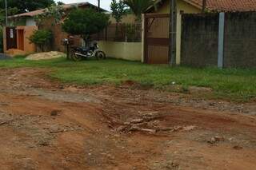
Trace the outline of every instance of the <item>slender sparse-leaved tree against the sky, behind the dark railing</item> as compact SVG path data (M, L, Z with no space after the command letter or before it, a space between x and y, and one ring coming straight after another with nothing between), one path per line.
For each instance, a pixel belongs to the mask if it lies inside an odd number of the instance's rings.
M112 10L112 16L117 22L115 26L115 35L118 37L118 25L122 21L122 17L127 13L126 4L124 4L122 1L117 2L116 0L112 0L110 9Z

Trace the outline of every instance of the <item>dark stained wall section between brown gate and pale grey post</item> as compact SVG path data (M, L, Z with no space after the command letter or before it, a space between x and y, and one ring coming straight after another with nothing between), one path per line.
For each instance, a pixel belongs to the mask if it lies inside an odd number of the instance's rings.
M218 14L184 14L181 50L182 65L217 65Z

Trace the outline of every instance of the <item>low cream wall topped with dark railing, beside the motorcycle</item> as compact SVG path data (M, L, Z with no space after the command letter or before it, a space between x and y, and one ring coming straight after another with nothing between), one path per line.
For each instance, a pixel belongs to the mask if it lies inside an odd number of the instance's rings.
M141 61L142 58L142 25L111 24L94 39L107 57L120 58L130 61Z

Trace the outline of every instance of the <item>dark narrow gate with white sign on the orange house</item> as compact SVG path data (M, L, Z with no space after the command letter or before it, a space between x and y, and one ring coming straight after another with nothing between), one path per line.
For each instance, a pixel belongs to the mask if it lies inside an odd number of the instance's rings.
M6 49L17 49L17 31L15 27L6 27Z

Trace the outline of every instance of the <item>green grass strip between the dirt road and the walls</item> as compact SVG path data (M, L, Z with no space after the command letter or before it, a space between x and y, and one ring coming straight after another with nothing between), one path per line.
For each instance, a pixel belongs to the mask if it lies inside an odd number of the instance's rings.
M247 101L256 97L256 69L195 69L170 67L168 65L146 65L134 61L107 59L66 61L58 58L48 61L25 61L22 57L0 61L0 67L50 68L50 77L78 85L104 83L119 84L122 81L136 81L141 85L158 89L170 89L172 82L181 85L186 92L189 86L210 87L213 97Z

